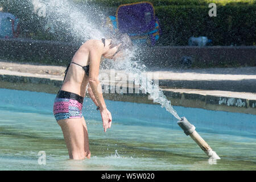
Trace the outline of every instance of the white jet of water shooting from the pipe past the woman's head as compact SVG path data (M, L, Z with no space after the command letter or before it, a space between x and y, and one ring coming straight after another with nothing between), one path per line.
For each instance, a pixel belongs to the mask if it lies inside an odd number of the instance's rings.
M85 3L82 10L80 5L72 3L67 0L31 0L36 3L43 3L46 12L43 12L47 22L54 23L56 27L62 28L65 32L68 32L74 39L86 41L88 39L101 39L108 35L108 32L102 31L101 23L102 19L106 15L101 13L98 7L90 5L90 1ZM39 7L39 6L38 6ZM42 7L42 5L40 6ZM43 10L44 10L43 9ZM113 64L115 69L122 69L126 73L137 73L140 79L136 79L136 85L139 85L141 78L145 76L146 66L135 56L139 47L134 47L132 52L127 52L128 55L125 60L116 61ZM149 86L151 85L151 86ZM146 85L141 85L141 89L144 89L154 102L159 103L162 107L165 107L174 117L180 120L179 115L171 105L171 101L168 101L164 96L159 86L154 84L152 80L147 80Z

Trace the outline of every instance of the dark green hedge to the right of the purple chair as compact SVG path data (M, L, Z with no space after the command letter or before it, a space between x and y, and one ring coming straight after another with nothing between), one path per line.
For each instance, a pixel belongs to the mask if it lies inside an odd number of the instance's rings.
M164 45L187 45L191 36L207 36L213 45L253 45L256 39L256 5L218 6L217 16L208 6L158 6L156 15Z

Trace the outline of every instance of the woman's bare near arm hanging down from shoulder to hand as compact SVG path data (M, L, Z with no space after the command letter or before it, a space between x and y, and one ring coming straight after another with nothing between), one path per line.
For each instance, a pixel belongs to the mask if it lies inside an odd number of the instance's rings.
M90 69L89 69L89 84L92 88L94 97L96 98L98 105L100 106L101 118L103 122L104 131L111 127L112 115L108 109L106 109L106 104L102 96L102 88L100 81L98 80L98 75L100 72L100 60L103 52L103 44L95 43L95 45L90 47Z

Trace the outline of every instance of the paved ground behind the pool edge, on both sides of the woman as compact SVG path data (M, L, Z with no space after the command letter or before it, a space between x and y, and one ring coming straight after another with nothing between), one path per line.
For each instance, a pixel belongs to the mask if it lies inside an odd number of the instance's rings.
M63 80L65 67L9 63L0 60L0 75ZM109 70L101 72L110 73ZM122 73L122 71L115 71ZM157 70L160 87L180 93L256 100L256 67Z

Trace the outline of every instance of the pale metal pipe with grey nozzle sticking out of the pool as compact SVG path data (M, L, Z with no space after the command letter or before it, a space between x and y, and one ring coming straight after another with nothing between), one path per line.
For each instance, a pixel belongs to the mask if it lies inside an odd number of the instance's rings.
M196 132L196 127L188 122L188 120L185 117L182 117L180 121L177 122L177 124L183 129L184 133L186 135L189 135L209 156L210 159L220 159L220 157L210 148L210 146L205 142L205 140Z

